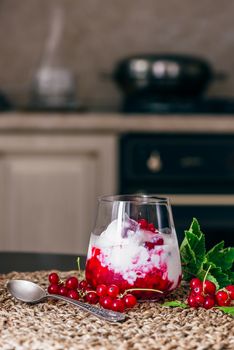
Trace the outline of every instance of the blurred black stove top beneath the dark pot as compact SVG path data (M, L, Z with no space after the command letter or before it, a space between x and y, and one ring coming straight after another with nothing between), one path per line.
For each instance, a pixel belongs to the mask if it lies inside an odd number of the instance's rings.
M155 96L133 96L124 99L122 112L149 114L234 114L234 98L159 99L155 98Z

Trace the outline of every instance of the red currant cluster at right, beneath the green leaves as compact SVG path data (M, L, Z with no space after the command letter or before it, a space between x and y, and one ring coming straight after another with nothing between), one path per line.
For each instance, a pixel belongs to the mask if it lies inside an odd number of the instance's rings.
M215 284L209 280L203 282L193 278L190 281L190 294L187 299L190 307L211 309L214 306L229 306L232 300L234 300L234 285L216 291Z

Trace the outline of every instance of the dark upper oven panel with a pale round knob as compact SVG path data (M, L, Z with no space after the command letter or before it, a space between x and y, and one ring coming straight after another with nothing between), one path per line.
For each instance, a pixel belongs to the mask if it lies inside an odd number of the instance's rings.
M170 184L234 183L234 137L125 135L121 139L121 176Z

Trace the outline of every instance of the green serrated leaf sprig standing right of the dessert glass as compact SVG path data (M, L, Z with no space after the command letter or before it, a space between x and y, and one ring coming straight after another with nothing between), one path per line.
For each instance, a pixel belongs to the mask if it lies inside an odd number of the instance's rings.
M205 235L196 218L184 235L180 246L184 280L192 277L203 280L209 269L207 279L214 282L217 289L234 283L234 247L224 248L222 241L206 252Z

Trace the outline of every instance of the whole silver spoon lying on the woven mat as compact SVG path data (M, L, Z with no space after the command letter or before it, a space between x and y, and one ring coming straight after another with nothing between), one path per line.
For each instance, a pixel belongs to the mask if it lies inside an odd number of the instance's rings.
M62 295L49 294L38 284L31 281L11 280L7 282L7 289L13 297L20 301L24 301L25 303L35 304L47 298L54 298L79 306L84 311L88 311L91 314L109 322L120 322L125 320L125 315L120 312L101 309L96 306L83 303L79 300L64 297Z

